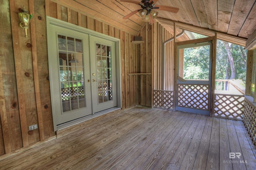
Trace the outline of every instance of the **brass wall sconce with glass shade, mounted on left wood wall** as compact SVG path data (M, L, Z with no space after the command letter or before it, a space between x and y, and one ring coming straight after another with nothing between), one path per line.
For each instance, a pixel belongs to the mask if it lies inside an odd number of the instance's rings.
M30 20L32 19L32 14L28 14L28 10L25 9L25 7L21 10L22 12L19 13L20 18L20 28L25 29L25 37L27 38L27 29L28 24L30 23Z

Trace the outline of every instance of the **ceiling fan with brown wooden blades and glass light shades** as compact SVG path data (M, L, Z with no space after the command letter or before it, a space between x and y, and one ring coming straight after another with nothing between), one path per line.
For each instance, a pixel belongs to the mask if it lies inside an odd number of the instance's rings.
M179 8L175 8L171 6L163 6L163 5L155 6L158 0L142 0L141 2L137 2L135 0L120 0L120 2L129 2L129 3L137 4L142 8L134 12L131 12L130 14L128 14L123 18L124 20L128 19L130 16L138 12L140 17L144 19L144 21L149 23L154 23L155 22L154 19L158 15L158 12L156 12L155 10L164 10L164 11L173 12L173 13L177 13L179 11Z

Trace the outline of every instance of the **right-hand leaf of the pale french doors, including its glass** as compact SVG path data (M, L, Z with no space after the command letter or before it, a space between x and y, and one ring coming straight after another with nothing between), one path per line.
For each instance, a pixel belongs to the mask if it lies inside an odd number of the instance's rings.
M113 41L90 36L93 113L117 106L115 51Z

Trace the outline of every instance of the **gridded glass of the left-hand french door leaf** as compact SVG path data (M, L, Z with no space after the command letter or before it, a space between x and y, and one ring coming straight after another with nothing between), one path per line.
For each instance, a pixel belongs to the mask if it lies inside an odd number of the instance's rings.
M63 112L86 107L82 47L81 39L58 35Z

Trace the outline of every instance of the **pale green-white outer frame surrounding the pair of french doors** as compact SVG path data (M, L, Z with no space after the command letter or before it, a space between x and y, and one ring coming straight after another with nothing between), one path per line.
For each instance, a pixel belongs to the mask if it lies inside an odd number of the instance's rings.
M56 108L54 108L54 106L52 106L52 116L53 116L53 124L54 124L54 131L57 131L57 130L60 130L60 129L64 129L66 127L69 127L71 125L74 125L74 124L77 124L77 123L80 123L82 121L85 121L85 120L88 120L88 119L91 119L93 117L97 117L99 115L102 115L102 114L105 114L105 113L108 113L110 111L113 111L113 110L116 110L116 109L119 109L119 108L122 108L122 85L121 85L121 60L120 60L120 56L121 56L121 52L120 52L120 39L117 39L117 38L114 38L114 37L110 37L108 35L105 35L105 34L102 34L102 33L98 33L96 31L92 31L90 29L86 29L84 27L80 27L78 25L74 25L72 23L68 23L68 22L65 22L65 21L61 21L61 20L58 20L56 18L52 18L52 17L49 17L49 16L46 16L46 28L47 28L47 32L50 32L50 28L49 28L49 25L56 25L56 26L59 26L59 27L64 27L64 28L67 28L67 29L70 29L70 30L73 30L73 31L78 31L80 33L84 33L84 34L88 34L88 35L92 35L92 36L95 36L95 37L100 37L102 39L107 39L107 40L110 40L110 41L113 41L116 45L116 93L117 93L117 107L115 108L112 108L110 110L106 110L106 111L102 111L100 113L97 113L97 114L92 114L92 115L88 115L86 117L82 117L81 119L76 119L74 121L70 121L68 123L64 123L62 125L59 125L57 127L57 124L56 124L56 117L55 117L55 112L56 112ZM50 44L50 41L51 41L51 38L52 37L49 37L48 34L47 34L47 43ZM49 51L49 46L48 46L48 51ZM49 72L52 71L52 68L49 67ZM51 93L52 93L52 86L51 86L51 81L53 79L53 77L50 77L50 90L51 90ZM52 100L52 98L51 98Z

